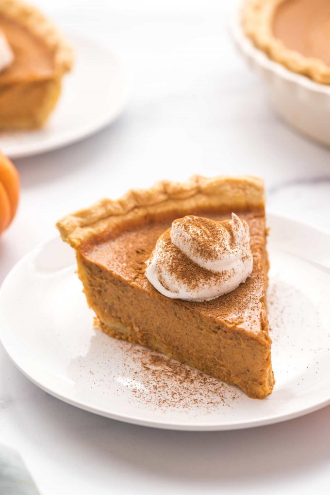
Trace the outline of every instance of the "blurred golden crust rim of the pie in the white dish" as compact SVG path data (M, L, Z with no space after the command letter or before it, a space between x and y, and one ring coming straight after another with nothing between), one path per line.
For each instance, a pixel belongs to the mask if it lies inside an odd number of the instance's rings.
M330 84L330 67L318 58L305 57L285 47L274 37L272 23L276 8L284 0L246 0L242 8L243 30L267 55L287 69L321 83Z

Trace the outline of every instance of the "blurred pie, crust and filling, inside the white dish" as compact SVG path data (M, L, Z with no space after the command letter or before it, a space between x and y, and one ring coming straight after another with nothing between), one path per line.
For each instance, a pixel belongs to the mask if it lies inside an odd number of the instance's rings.
M245 0L242 26L276 62L330 84L329 0Z

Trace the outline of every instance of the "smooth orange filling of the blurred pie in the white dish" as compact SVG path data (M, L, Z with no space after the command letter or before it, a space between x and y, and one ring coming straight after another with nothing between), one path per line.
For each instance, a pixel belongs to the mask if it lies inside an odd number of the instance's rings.
M330 66L330 1L280 2L274 13L273 34L288 49Z

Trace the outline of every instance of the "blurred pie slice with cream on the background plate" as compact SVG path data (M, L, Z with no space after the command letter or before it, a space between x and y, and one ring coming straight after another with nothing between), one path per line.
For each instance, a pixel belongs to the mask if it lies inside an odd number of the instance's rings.
M71 69L70 47L36 8L0 1L0 128L44 125Z

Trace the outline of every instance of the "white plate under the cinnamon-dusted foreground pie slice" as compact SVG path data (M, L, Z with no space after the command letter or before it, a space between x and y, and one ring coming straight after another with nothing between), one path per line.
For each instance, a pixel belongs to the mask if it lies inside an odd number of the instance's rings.
M73 251L58 238L27 254L3 283L2 344L49 394L129 423L230 430L319 409L330 403L330 236L275 215L269 225L276 385L264 400L95 330Z

